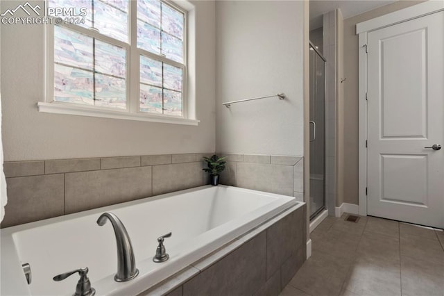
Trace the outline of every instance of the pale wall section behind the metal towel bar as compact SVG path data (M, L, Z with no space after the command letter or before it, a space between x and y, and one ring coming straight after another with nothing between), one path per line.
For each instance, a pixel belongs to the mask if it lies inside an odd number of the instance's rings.
M303 154L303 6L216 2L216 151ZM222 105L278 92L287 99Z

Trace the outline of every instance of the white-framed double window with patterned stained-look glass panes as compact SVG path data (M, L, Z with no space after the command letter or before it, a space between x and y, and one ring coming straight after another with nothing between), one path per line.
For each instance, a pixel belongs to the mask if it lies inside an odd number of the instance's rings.
M58 20L48 33L50 101L186 118L183 10L161 0L48 0L48 7Z

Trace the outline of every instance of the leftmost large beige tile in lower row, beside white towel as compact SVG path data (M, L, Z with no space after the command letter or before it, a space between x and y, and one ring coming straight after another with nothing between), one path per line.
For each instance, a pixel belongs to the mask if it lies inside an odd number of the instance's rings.
M64 176L51 174L6 179L8 204L1 227L64 214Z

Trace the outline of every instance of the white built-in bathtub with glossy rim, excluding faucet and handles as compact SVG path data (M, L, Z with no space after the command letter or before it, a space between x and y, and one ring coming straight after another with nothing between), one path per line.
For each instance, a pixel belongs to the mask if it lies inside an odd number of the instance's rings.
M203 186L1 229L1 295L72 295L77 274L52 278L85 266L96 295L137 295L295 204L284 195ZM96 224L105 211L120 218L133 242L139 275L131 281L114 281L114 231ZM169 261L153 263L157 237L170 231ZM31 285L23 263L31 264Z

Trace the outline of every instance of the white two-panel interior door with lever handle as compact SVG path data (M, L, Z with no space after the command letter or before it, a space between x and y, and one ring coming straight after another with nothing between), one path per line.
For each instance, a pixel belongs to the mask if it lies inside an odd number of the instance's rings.
M368 215L444 228L444 12L368 33Z

